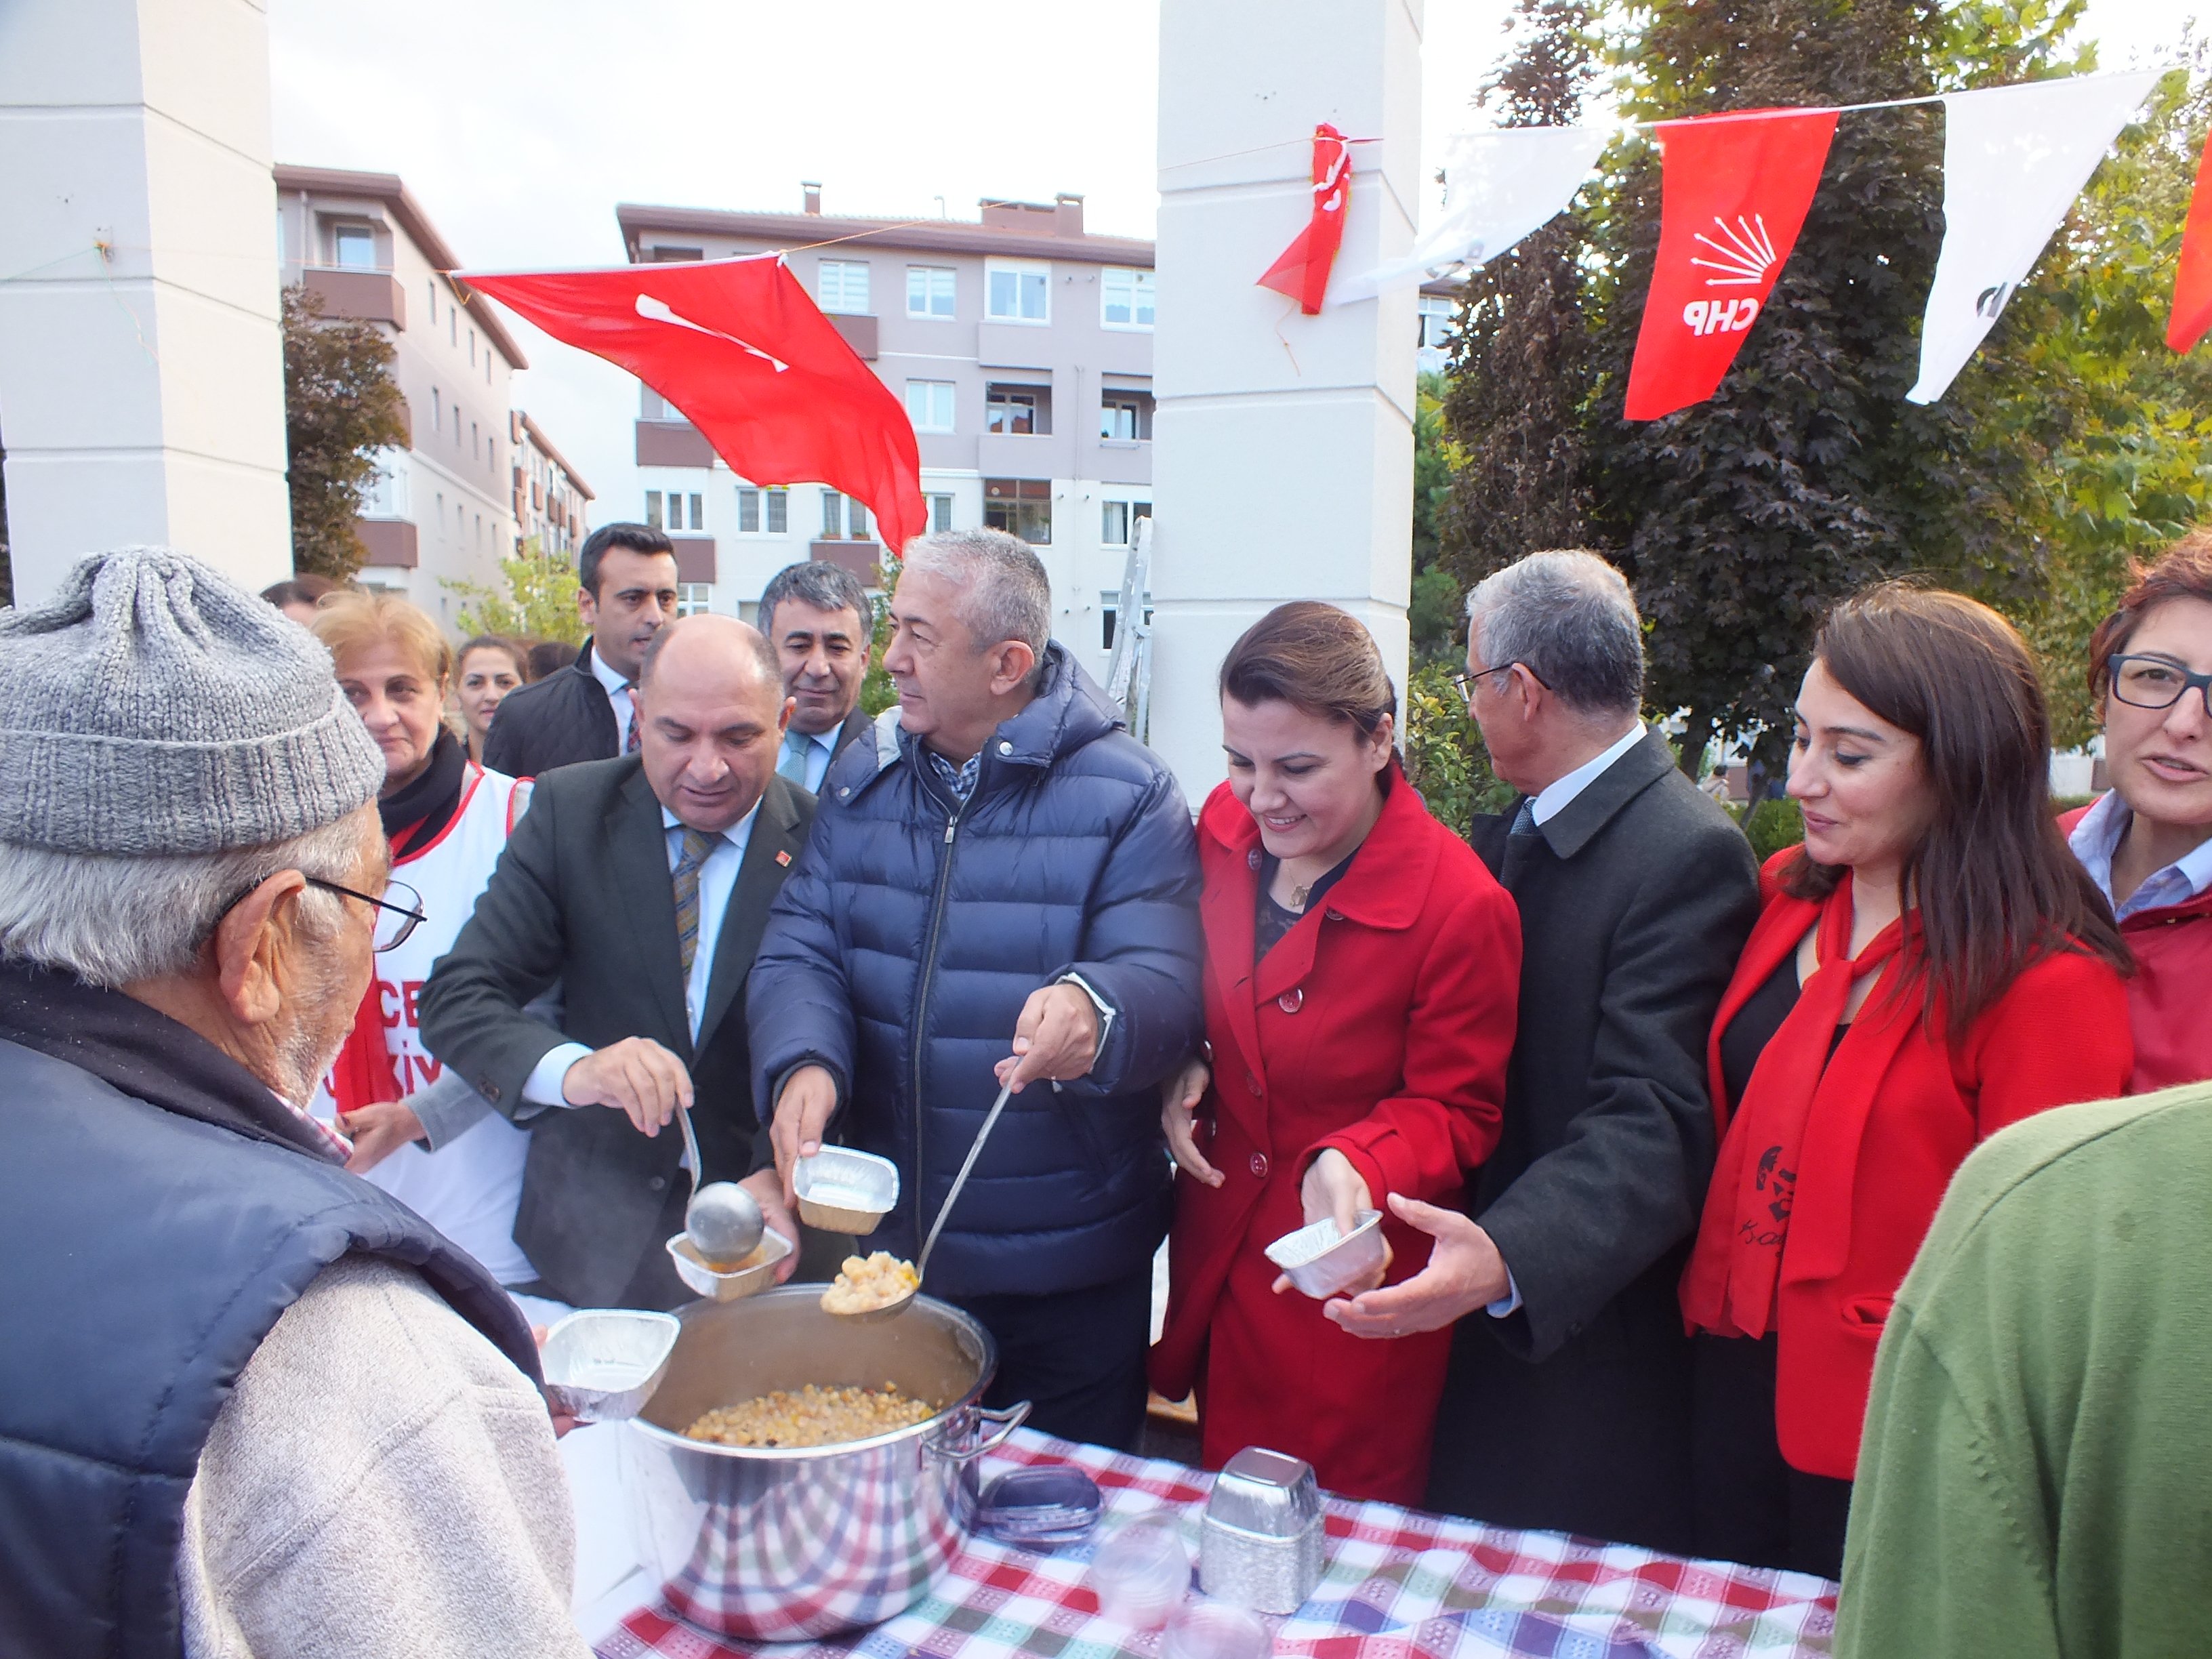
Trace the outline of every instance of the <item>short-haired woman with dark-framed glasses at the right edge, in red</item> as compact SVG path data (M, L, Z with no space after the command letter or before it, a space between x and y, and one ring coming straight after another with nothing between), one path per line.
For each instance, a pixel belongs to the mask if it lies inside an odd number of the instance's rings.
M2137 568L2088 641L2095 803L2062 818L2135 951L2135 1093L2212 1077L2212 531Z

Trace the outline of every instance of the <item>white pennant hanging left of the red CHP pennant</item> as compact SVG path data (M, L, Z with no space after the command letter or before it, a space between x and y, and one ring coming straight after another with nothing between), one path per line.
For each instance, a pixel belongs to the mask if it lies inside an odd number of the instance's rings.
M1455 133L1444 153L1444 212L1387 265L1332 283L1329 305L1374 299L1451 265L1498 259L1575 199L1610 133L1595 126L1504 126Z

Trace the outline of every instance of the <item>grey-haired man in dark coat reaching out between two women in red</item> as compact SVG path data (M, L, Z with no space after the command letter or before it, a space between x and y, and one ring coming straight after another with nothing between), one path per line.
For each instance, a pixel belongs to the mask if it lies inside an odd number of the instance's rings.
M1690 1345L1674 1285L1712 1172L1705 1040L1759 914L1752 849L1637 719L1619 573L1533 553L1469 597L1467 699L1522 799L1473 845L1522 916L1504 1135L1438 1245L1332 1303L1363 1336L1458 1321L1429 1506L1690 1544Z

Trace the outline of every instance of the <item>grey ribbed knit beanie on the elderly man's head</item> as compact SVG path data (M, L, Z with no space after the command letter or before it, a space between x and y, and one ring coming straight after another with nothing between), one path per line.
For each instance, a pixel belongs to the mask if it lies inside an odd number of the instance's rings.
M212 564L93 553L49 604L0 611L0 841L230 852L336 823L383 783L330 653Z

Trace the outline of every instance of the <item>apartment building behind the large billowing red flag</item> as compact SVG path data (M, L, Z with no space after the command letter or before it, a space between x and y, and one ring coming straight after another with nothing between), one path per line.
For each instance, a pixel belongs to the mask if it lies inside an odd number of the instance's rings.
M929 526L991 524L1037 549L1053 633L1104 672L1130 538L1152 511L1152 243L1084 230L1084 201L982 201L980 219L619 206L630 261L790 250L792 274L905 403ZM830 243L830 246L816 246ZM641 387L641 518L668 531L684 608L754 615L768 577L836 560L872 580L860 502L734 476Z

